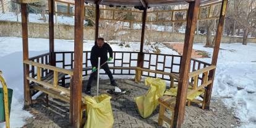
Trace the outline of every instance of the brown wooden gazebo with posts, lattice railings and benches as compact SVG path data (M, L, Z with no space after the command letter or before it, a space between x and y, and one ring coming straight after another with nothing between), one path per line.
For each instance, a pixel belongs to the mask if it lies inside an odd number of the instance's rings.
M90 51L83 51L83 27L84 27L84 6L85 2L96 4L96 20L95 20L95 39L98 38L99 30L99 19L100 19L100 4L103 5L112 5L112 6L141 6L143 7L142 15L142 36L140 41L140 52L116 52L116 54L136 54L137 59L132 59L130 61L137 61L137 66L129 67L112 67L113 70L129 70L129 73L126 75L135 75L136 80L140 80L140 76L150 76L147 74L142 74L143 72L153 72L155 74L162 74L163 79L166 79L164 75L168 75L168 79L171 83L174 81L178 82L178 91L177 99L175 105L174 121L173 127L181 127L182 122L184 121L184 109L186 106L186 97L187 90L189 86L189 80L192 82L195 78L191 79L191 76L203 74L204 78L200 80L205 80L207 82L203 83L203 88L206 91L205 99L205 109L209 109L210 99L211 99L211 90L213 88L213 80L215 75L215 66L218 59L218 52L220 49L221 35L223 32L223 23L224 17L226 14L226 6L228 0L75 0L75 41L74 41L74 52L55 52L54 51L54 0L48 0L49 5L49 53L42 54L40 56L35 56L33 58L28 58L28 13L27 13L27 4L30 2L38 2L40 0L18 0L21 4L22 10L22 39L23 39L23 72L24 72L24 108L28 108L32 103L31 96L38 92L38 90L47 93L48 95L54 95L56 98L67 101L70 103L70 122L73 127L81 127L82 117L81 109L83 106L82 103L82 77L83 75L88 74L88 70L84 74L84 68L88 67L88 53ZM213 51L213 58L211 64L206 62L198 61L191 58L192 45L194 40L195 26L198 19L198 10L200 6L205 6L207 4L215 4L216 2L222 2L221 14L218 24L218 31L216 33L215 48ZM154 6L168 6L173 4L187 4L189 3L189 10L187 12L187 27L186 27L186 36L184 41L184 53L182 56L173 56L173 55L164 55L164 54L150 54L143 53L143 42L145 35L145 24L147 19L147 9L148 7ZM85 35L87 36L87 35ZM70 64L65 64L65 56L69 54L71 56ZM164 56L164 58L179 58L181 59L180 64L174 64L171 62L171 67L163 67L171 69L170 72L160 72L159 70L150 70L145 68L144 62L149 62L150 59L145 60L145 56ZM73 57L74 55L74 57ZM85 56L83 56L85 55ZM62 56L61 60L56 60L56 56ZM85 58L85 62L83 62ZM124 58L122 58L124 59ZM117 59L116 59L117 60ZM74 61L74 62L73 62ZM158 62L158 61L157 61ZM156 67L157 67L156 62ZM56 64L62 64L62 67L56 67ZM160 62L159 62L160 63ZM163 65L165 62L162 62ZM173 71L173 66L179 66L177 72ZM203 66L201 68L201 66ZM36 67L36 70L35 70ZM67 69L69 67L69 69ZM192 67L192 68L190 68ZM196 69L196 67L198 67ZM205 69L207 68L208 69ZM191 74L191 70L193 74ZM200 70L199 70L200 69ZM135 70L135 74L132 73L132 70ZM206 72L206 73L205 73ZM115 74L115 73L114 73ZM117 73L116 73L117 74ZM121 71L121 74L122 71ZM51 76L51 79L49 79ZM155 75L156 76L156 75ZM70 90L58 85L59 80L62 80L62 83L65 83L65 79L70 79L71 85ZM35 84L36 83L36 84ZM43 88L47 87L47 88ZM202 89L202 88L200 88ZM58 91L66 92L66 96L58 95Z

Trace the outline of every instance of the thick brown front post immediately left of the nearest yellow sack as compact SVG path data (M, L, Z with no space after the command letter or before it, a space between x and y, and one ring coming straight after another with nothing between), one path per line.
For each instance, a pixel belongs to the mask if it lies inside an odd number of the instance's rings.
M75 1L74 79L71 85L72 127L80 128L83 69L83 19L85 0Z

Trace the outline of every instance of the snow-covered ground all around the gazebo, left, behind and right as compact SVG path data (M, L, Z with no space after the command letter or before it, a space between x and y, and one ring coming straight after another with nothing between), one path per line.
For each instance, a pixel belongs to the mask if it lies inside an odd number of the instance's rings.
M130 47L119 46L117 41L109 41L114 51L139 51L139 43L129 43ZM30 57L46 53L48 39L29 38ZM83 50L90 50L94 42L84 41ZM56 51L74 51L73 40L55 40ZM194 44L194 49L208 51L203 44ZM151 46L145 50L152 52ZM177 54L172 49L160 48L163 54ZM201 59L211 62L211 58ZM23 106L23 69L22 38L0 37L0 70L3 71L7 85L14 89L11 109L11 127L22 127L24 119L31 115L22 110ZM221 44L218 66L215 75L213 95L223 98L228 108L235 108L236 116L242 127L256 127L256 44L247 46L241 43ZM4 123L0 124L4 127Z

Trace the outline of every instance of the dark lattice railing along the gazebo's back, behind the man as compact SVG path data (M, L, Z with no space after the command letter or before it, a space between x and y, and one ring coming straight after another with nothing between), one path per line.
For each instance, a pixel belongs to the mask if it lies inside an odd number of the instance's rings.
M55 52L56 66L64 69L73 69L74 67L74 52ZM135 75L137 67L138 52L130 51L114 51L113 62L109 62L109 68L113 75ZM179 64L181 57L179 55L144 53L143 69L158 70L179 74ZM90 51L83 51L83 76L90 74ZM89 68L88 68L89 67ZM105 74L101 72L101 74ZM160 77L164 80L170 80L169 75L155 74L154 72L143 71L142 76L145 77ZM69 77L66 77L69 79Z

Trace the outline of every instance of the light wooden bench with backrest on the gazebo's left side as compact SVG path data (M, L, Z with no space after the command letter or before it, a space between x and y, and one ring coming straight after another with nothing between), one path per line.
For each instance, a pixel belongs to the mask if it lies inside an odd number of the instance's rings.
M37 69L36 78L27 76L27 80L30 80L30 82L34 82L30 88L32 88L33 90L38 90L43 93L46 93L52 96L53 98L57 98L66 103L70 103L69 88L64 88L59 86L58 82L59 80L64 78L65 75L70 75L70 77L73 77L74 72L72 70L62 69L59 67L49 66L46 64L40 64L38 62L33 62L33 61L23 61L23 63L28 64L30 66L35 66ZM41 69L48 69L48 70L51 70L51 72L49 72L49 74L47 74L45 77L41 77ZM86 96L86 95L82 93L82 96ZM82 105L81 105L81 113L82 113L83 110L86 108L86 105L85 105L84 98L82 98L81 100L82 100ZM71 116L71 114L69 116Z

